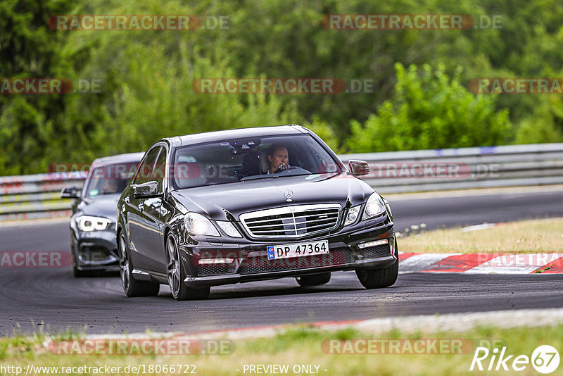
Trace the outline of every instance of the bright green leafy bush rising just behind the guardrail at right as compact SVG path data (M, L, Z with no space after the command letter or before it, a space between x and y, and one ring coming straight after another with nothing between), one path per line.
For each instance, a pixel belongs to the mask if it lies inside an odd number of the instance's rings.
M495 96L474 96L443 65L432 70L396 64L396 93L365 125L351 123L351 152L437 149L503 144L510 130L508 111L495 112Z

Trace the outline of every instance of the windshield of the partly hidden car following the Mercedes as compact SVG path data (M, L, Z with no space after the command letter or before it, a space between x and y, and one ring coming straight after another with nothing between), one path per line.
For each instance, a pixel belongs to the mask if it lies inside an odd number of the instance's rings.
M85 188L87 197L123 192L137 170L137 163L104 164L91 168Z

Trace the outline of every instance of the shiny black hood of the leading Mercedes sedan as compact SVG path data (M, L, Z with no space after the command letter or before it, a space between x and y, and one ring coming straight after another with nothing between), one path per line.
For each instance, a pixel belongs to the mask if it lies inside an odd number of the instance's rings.
M291 201L286 199L291 190ZM239 220L239 215L280 206L305 205L308 203L339 203L345 207L358 205L374 190L368 184L345 173L303 175L265 178L242 182L218 184L208 187L181 189L172 195L186 207L208 215L215 220L227 219L226 212Z

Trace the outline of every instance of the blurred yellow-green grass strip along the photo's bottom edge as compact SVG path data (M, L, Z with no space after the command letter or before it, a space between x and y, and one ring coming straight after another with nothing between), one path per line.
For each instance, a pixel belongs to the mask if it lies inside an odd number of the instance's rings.
M511 375L514 372L469 372L474 346L464 353L442 354L329 354L322 351L325 339L469 339L472 344L479 341L500 341L507 346L507 353L531 356L537 346L549 344L563 350L563 325L553 327L477 327L464 332L403 333L393 330L379 334L344 329L336 332L318 330L307 326L296 326L275 337L235 341L234 351L229 355L56 355L42 345L45 337L13 337L0 339L0 364L26 368L35 366L121 366L126 365L196 365L198 375L249 375L243 373L244 365L287 364L320 365L320 375L464 375L491 374ZM488 365L490 357L483 362ZM510 362L509 362L510 365ZM239 371L237 371L239 370ZM324 371L327 370L327 371ZM123 374L123 373L121 373ZM164 374L162 372L156 374ZM168 372L170 374L170 372ZM519 375L536 375L528 365ZM563 365L551 375L563 375Z

